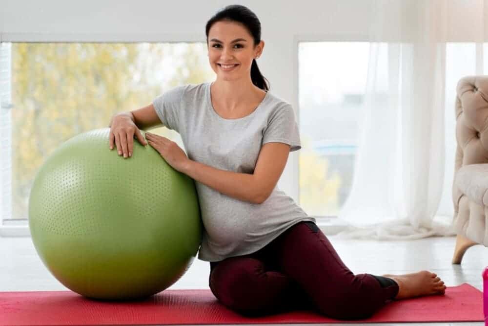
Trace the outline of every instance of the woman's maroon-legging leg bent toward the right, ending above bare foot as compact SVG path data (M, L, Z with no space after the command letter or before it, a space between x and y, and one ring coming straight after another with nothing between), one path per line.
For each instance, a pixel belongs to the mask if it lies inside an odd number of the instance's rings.
M367 318L398 293L398 284L390 278L354 275L313 222L293 225L272 245L280 271L295 280L328 317Z

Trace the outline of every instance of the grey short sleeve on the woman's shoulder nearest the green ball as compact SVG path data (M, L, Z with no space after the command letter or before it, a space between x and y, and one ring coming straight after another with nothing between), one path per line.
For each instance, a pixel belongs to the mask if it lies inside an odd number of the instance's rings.
M183 103L184 85L174 87L156 97L153 101L154 109L163 125L180 132L180 109Z

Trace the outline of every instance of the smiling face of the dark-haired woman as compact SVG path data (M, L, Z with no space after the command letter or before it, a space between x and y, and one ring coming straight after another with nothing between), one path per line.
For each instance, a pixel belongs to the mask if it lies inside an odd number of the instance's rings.
M250 78L252 60L263 48L263 41L254 48L252 36L236 22L216 22L208 31L208 59L218 79ZM226 69L221 64L237 66Z

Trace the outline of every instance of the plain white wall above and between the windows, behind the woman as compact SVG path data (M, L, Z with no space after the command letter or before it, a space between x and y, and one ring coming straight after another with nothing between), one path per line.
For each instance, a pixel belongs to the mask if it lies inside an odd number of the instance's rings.
M258 65L270 91L298 114L297 40L366 40L370 0L0 0L2 42L205 42L205 24L227 4L261 21ZM326 53L324 54L326 60ZM298 157L290 153L279 187L298 202Z

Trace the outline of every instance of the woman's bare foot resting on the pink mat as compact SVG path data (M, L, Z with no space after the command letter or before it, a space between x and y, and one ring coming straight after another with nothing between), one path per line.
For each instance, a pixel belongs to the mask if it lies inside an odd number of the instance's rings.
M444 294L446 285L436 274L429 271L403 275L382 275L398 283L398 294L395 299L406 299L430 294Z

